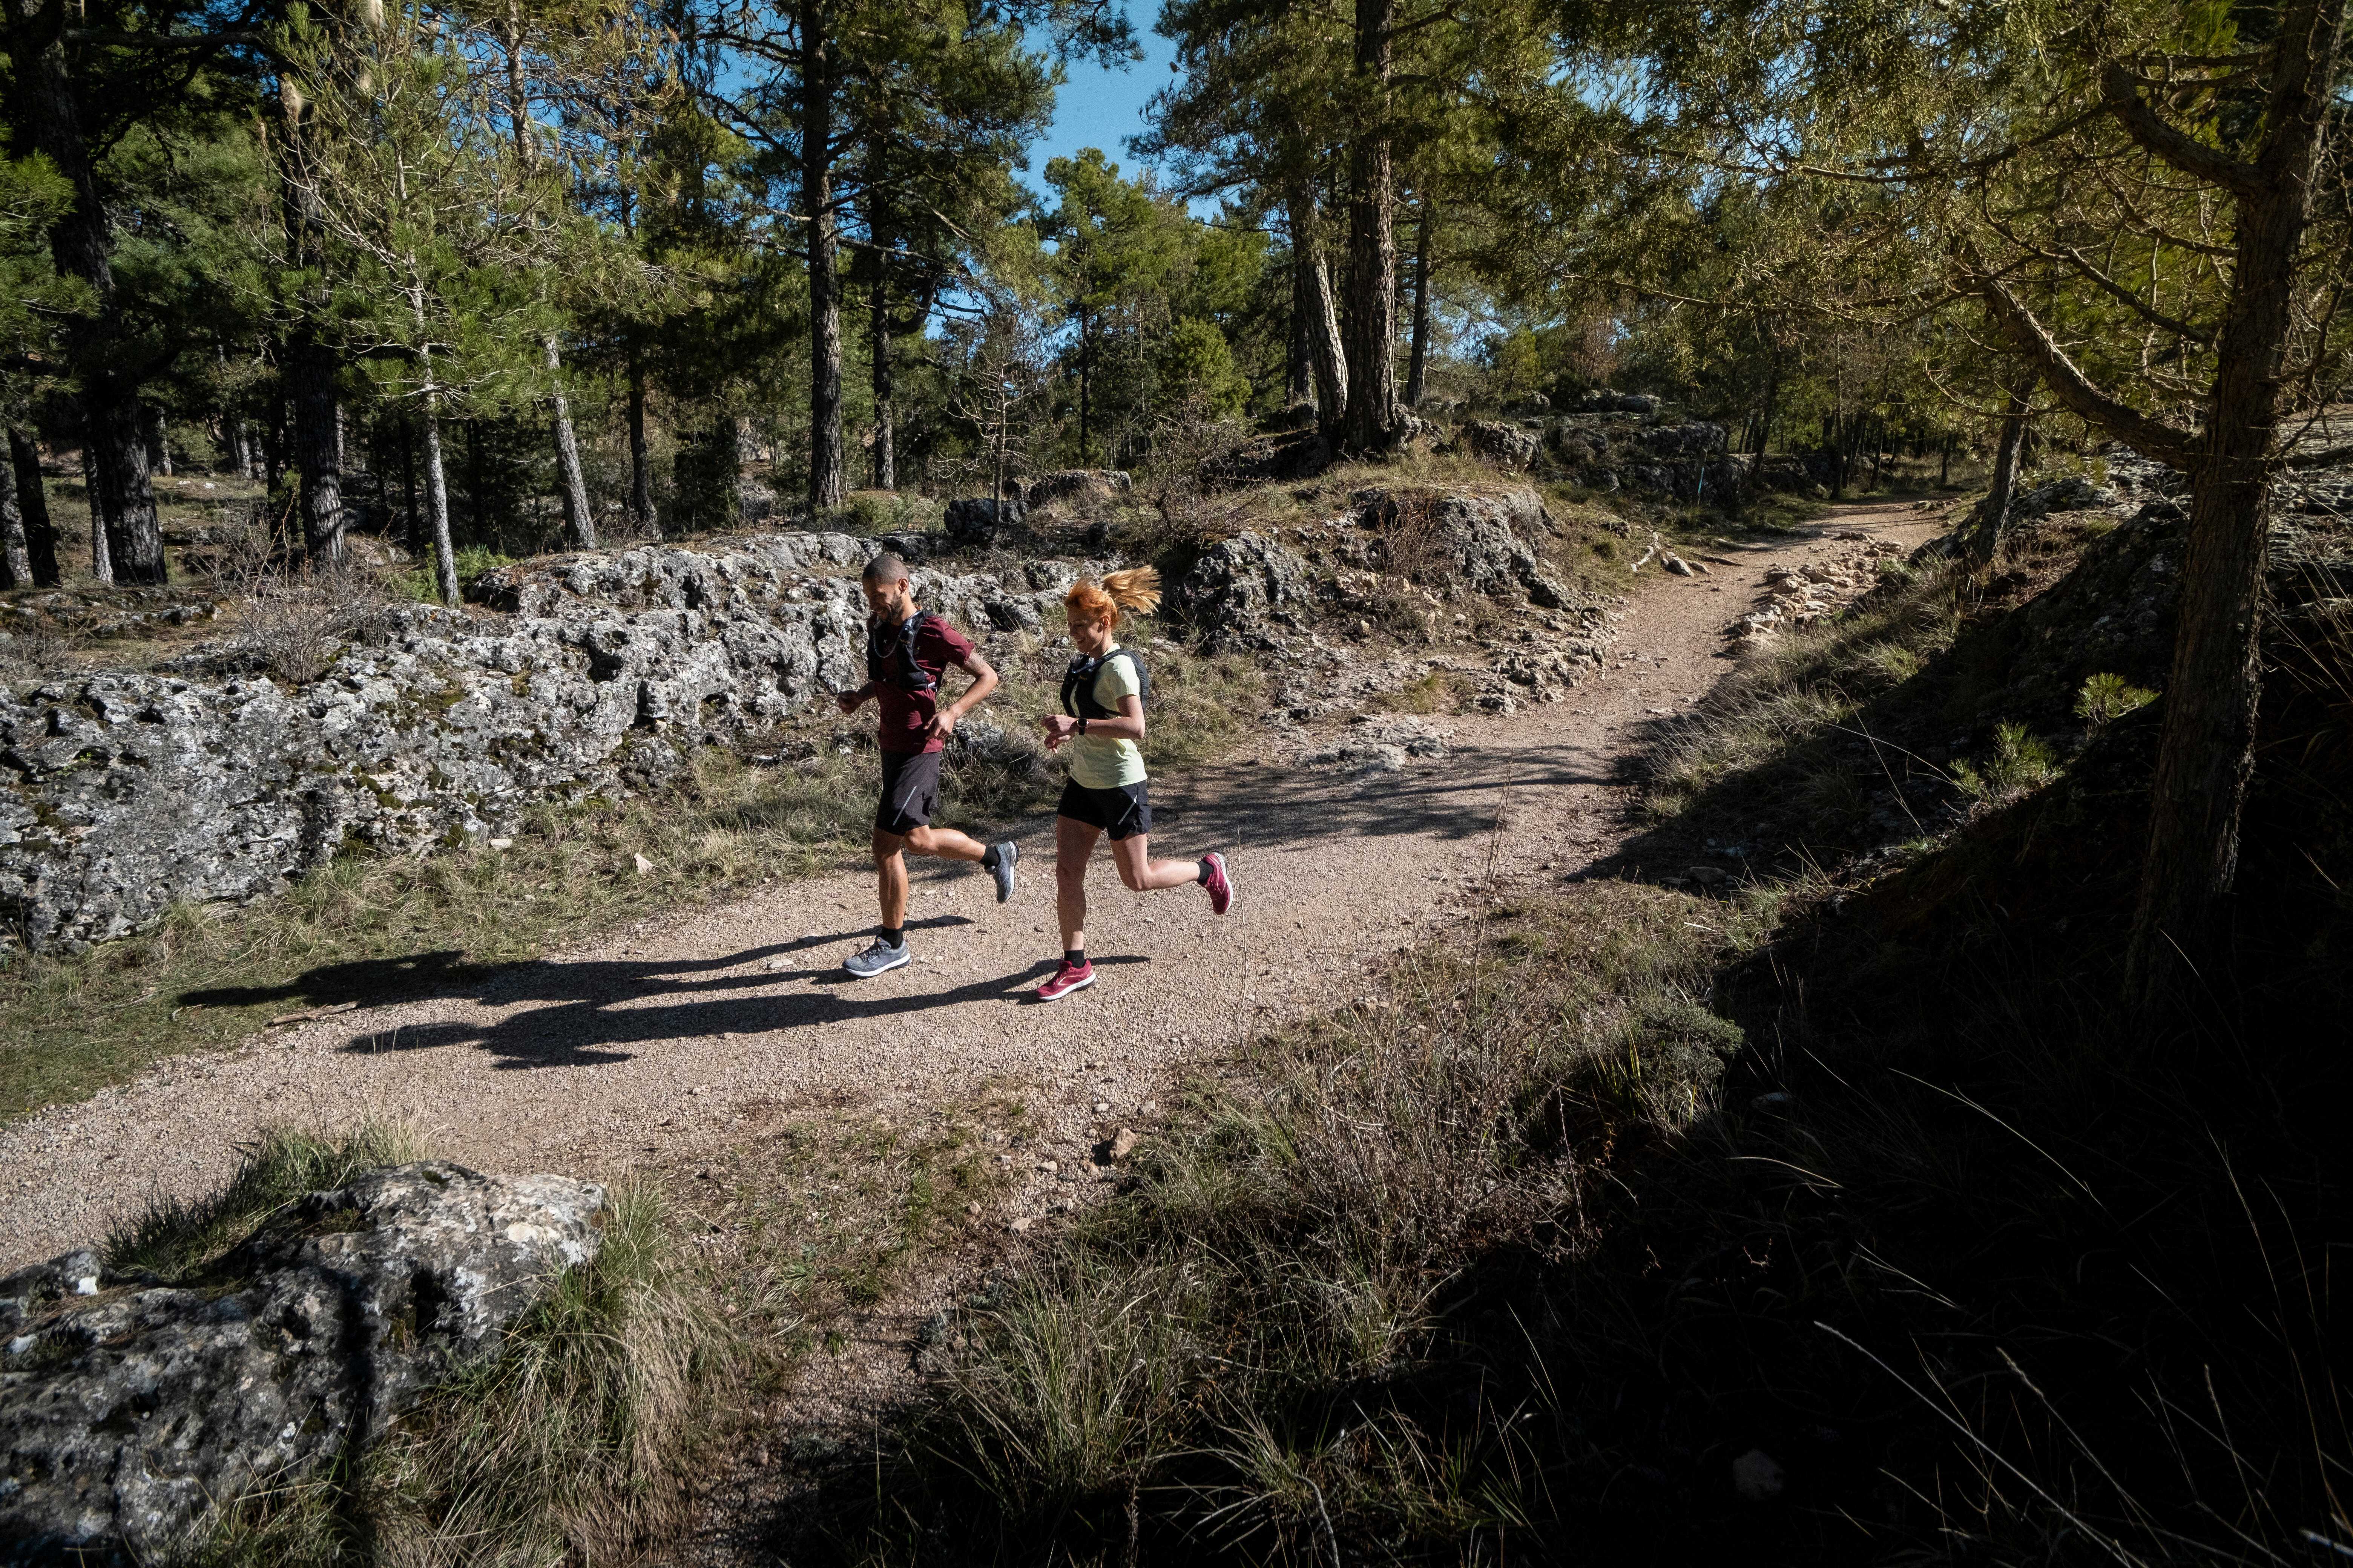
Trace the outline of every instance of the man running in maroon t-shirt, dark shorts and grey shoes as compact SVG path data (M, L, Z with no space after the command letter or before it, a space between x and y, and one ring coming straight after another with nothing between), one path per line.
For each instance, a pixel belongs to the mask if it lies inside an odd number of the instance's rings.
M882 552L866 562L866 684L842 691L842 712L866 698L882 705L882 799L875 802L875 882L882 896L882 931L873 947L852 954L842 969L866 980L899 969L915 954L906 943L906 853L944 860L979 860L998 884L998 903L1014 896L1014 844L981 846L953 827L932 827L939 806L939 755L955 722L998 689L998 672L946 616L915 604L915 578L906 562ZM972 677L953 703L939 701L939 677L948 668Z

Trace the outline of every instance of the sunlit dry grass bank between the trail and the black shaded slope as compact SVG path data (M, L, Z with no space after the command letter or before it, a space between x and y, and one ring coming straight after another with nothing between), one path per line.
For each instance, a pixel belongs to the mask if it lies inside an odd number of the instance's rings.
M1588 1246L1598 1117L1713 1107L1694 1037L1739 1032L1704 1006L1701 907L1727 910L1605 886L1511 912L1195 1084L1141 1178L967 1312L849 1556L920 1556L936 1509L979 1512L976 1559L1073 1561L1391 1561L1518 1523L1511 1443L1433 1420L1445 1298L1494 1248Z

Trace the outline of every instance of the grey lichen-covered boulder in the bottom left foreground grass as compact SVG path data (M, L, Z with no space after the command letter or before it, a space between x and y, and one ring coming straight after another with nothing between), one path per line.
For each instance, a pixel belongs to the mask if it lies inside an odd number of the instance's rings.
M598 1253L605 1190L426 1161L282 1208L195 1279L0 1279L0 1563L144 1563L494 1359Z

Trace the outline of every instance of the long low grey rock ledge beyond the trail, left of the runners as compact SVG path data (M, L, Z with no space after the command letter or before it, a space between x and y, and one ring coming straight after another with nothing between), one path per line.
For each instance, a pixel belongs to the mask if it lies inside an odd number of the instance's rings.
M534 802L624 797L696 745L788 719L864 675L880 541L772 534L725 550L569 555L485 574L508 614L395 607L320 682L238 668L87 675L0 693L0 945L80 950L172 903L249 900L346 851L431 851ZM920 569L967 630L1040 630L1042 578Z

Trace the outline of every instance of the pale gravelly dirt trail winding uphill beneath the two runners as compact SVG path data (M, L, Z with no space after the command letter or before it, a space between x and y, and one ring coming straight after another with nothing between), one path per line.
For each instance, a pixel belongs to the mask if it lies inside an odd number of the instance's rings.
M0 1128L0 1272L104 1237L151 1197L212 1187L238 1143L282 1121L412 1117L471 1166L609 1178L692 1157L760 1107L892 1112L1012 1079L1049 1143L1078 1150L1094 1124L1132 1117L1172 1063L1329 1006L1400 945L1468 917L1489 872L1534 886L1607 858L1624 837L1619 762L1729 668L1720 632L1765 571L1821 555L1838 529L1911 545L1937 527L1901 505L1849 505L1802 536L1715 550L1732 564L1628 607L1609 668L1567 701L1435 719L1447 755L1405 773L1242 759L1155 780L1153 846L1226 851L1235 907L1217 919L1195 889L1127 893L1099 851L1087 947L1104 978L1056 1004L1033 997L1059 957L1054 830L1040 816L1012 835L1012 905L979 870L918 860L918 961L875 980L840 971L873 929L873 879L833 875L473 990L174 1058Z

